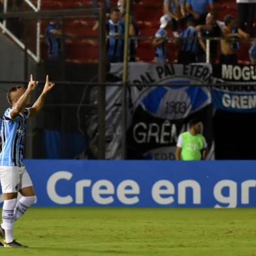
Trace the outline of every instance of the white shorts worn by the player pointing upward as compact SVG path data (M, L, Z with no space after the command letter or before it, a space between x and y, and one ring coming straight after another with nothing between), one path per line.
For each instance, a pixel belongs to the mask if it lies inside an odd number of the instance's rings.
M2 193L18 193L24 187L33 186L25 167L0 166Z

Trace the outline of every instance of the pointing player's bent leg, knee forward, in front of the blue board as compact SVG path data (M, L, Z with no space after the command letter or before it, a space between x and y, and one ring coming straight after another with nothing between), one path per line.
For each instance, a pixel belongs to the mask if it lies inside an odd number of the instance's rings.
M27 209L35 202L37 197L35 196L35 191L33 189L33 184L31 182L31 178L29 174L25 170L25 167L22 167L22 178L21 178L21 189L20 194L22 197L18 200L15 210L14 210L14 218L19 219L22 217Z

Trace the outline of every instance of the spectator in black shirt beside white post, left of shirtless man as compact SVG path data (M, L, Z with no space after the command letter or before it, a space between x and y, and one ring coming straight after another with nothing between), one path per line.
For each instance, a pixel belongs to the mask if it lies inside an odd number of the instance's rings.
M216 12L210 11L206 16L205 25L197 25L201 53L199 62L206 62L206 40L202 37L221 37L221 29L216 21ZM214 64L217 56L218 40L210 40L210 63Z

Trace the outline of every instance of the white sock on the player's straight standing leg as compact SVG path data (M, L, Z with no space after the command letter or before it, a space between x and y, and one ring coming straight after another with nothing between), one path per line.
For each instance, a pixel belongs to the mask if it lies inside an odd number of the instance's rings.
M17 199L4 200L2 211L2 228L5 229L5 242L8 244L13 241L13 223L14 223L14 208Z

